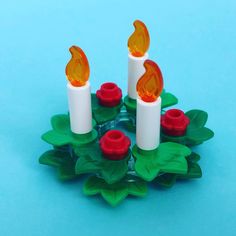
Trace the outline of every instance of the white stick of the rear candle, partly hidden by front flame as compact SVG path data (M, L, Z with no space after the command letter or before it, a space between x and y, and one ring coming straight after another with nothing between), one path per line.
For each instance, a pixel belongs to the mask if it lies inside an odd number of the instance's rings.
M137 99L136 84L139 78L144 74L145 68L143 63L148 59L148 53L142 57L128 56L128 96Z

